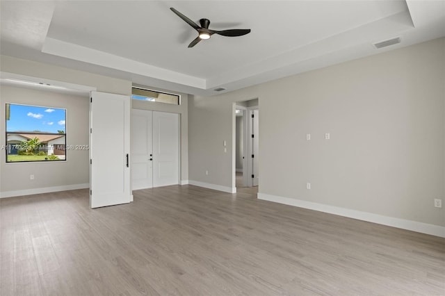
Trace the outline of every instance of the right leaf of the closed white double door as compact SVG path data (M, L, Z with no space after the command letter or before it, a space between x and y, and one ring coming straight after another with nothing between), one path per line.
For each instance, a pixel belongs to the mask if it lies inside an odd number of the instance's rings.
M153 112L153 186L179 183L179 115Z

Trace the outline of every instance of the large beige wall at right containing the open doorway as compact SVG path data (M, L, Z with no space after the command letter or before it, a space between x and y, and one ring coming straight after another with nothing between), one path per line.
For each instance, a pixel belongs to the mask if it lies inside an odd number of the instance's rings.
M444 55L442 38L195 97L189 179L234 186L221 143L232 141L233 102L257 97L260 194L443 227L433 199L445 198Z

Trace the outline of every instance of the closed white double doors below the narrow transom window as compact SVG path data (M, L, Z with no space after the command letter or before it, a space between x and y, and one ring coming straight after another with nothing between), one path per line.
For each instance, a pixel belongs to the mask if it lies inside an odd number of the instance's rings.
M131 189L179 183L179 115L131 110Z

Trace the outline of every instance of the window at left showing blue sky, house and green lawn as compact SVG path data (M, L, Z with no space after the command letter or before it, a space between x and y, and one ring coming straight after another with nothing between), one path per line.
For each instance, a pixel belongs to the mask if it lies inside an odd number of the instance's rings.
M6 162L65 161L66 109L6 104Z

